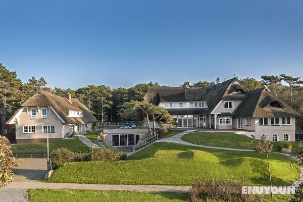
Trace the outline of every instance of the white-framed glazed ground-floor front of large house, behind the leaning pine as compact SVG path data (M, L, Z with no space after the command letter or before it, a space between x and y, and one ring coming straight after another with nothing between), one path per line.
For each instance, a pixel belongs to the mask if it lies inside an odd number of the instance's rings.
M208 127L206 115L175 115L174 123L178 128Z

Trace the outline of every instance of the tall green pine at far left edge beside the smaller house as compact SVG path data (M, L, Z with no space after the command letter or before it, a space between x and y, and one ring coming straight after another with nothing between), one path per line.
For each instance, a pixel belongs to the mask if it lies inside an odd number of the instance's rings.
M17 100L21 88L21 80L16 72L9 71L0 63L0 103L1 103L1 133L4 134L5 117L10 117L19 107ZM10 112L7 114L7 112Z

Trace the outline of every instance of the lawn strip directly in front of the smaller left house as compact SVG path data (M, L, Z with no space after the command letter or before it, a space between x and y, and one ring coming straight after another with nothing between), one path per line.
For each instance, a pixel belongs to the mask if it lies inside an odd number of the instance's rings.
M49 151L58 147L66 147L74 152L89 150L89 147L83 144L78 137L49 142ZM45 154L47 145L46 142L15 144L12 145L12 151L13 154Z

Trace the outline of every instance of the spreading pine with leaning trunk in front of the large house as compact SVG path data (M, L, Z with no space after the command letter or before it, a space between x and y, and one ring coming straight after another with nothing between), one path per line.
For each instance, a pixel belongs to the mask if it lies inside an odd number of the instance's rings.
M173 121L173 116L163 107L136 100L124 103L119 114L121 117L131 120L143 120L145 118L149 132L153 135L156 135L156 122L171 123ZM149 120L153 120L153 131L151 131Z

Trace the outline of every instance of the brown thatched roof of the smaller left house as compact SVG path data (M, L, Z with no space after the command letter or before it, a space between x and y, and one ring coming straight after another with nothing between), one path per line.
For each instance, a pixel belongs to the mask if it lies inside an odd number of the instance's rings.
M96 121L96 118L90 113L88 108L85 107L82 103L80 103L77 98L72 98L72 102L70 103L65 97L48 93L47 91L42 89L39 89L33 96L31 96L21 105L21 107L47 106L52 107L64 120L65 123L85 124L87 122ZM81 112L83 117L68 117L70 110ZM16 112L15 115L17 113L18 112ZM14 116L12 116L12 118ZM11 121L11 119L8 121L8 123Z

